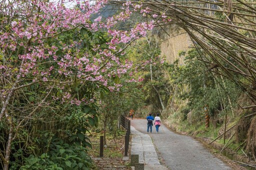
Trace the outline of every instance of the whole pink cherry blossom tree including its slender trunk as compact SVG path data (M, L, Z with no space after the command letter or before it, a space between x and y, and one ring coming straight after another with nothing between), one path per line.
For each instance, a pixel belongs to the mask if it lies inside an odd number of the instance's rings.
M68 3L66 3L68 2ZM0 151L8 170L13 141L37 112L59 106L93 103L83 91L118 90L112 76L121 76L132 62L122 59L121 44L129 44L153 21L137 23L130 30L113 27L142 5L123 4L122 11L101 20L100 8L107 0L8 0L0 3L0 122L8 137ZM71 7L66 4L72 4ZM97 16L92 19L92 16ZM88 94L88 93L87 93ZM50 108L50 109L49 109ZM63 111L63 110L62 110Z

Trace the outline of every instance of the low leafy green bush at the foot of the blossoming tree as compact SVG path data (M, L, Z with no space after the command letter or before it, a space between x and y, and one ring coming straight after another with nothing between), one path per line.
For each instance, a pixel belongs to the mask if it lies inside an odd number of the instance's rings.
M20 170L90 170L91 167L92 161L85 147L55 139L48 153L40 157L30 155Z

